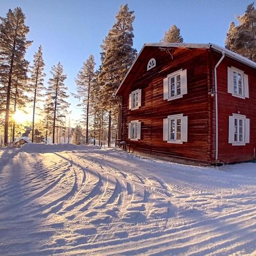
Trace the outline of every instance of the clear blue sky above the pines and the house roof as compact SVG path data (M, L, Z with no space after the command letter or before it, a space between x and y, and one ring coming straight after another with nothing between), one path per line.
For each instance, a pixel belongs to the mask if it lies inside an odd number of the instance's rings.
M0 0L0 16L9 9L22 8L27 36L33 40L26 59L33 62L39 45L45 61L45 85L50 70L60 61L67 74L69 92L76 92L75 77L92 54L100 65L100 45L115 23L120 5L134 11L134 48L139 52L146 42L159 42L170 26L176 25L184 42L212 42L224 46L230 22L242 15L253 0ZM78 100L70 96L72 123L81 118Z

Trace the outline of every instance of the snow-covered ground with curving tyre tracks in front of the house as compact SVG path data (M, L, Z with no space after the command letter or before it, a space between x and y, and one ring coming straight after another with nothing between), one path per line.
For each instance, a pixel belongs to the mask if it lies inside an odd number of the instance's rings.
M256 163L70 144L0 154L0 254L256 253Z

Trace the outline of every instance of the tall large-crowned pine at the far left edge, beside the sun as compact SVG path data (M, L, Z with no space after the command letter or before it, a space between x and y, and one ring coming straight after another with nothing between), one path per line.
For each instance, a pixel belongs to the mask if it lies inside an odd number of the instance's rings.
M22 9L9 10L7 17L0 17L0 19L2 21L2 24L0 24L0 77L2 83L1 94L6 99L4 100L6 106L4 143L7 145L14 66L23 62L26 49L30 46L31 41L26 40L29 27L25 25L26 17ZM0 105L3 105L3 102Z

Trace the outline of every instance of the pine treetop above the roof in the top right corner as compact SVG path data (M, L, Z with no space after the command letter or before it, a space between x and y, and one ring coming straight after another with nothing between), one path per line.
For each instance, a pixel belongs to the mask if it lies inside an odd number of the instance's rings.
M256 61L256 10L253 4L248 5L245 13L237 18L238 26L233 22L230 24L225 47Z

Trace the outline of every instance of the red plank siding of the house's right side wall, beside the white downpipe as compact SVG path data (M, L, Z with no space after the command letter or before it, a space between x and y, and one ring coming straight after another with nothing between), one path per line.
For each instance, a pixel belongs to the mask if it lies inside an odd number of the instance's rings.
M215 62L221 57L214 53ZM241 99L227 92L227 67L236 67L248 75L249 98ZM239 162L253 159L256 149L256 71L240 62L225 57L218 67L218 114L219 114L219 160ZM232 113L246 115L250 119L250 143L233 146L228 143L228 117Z

